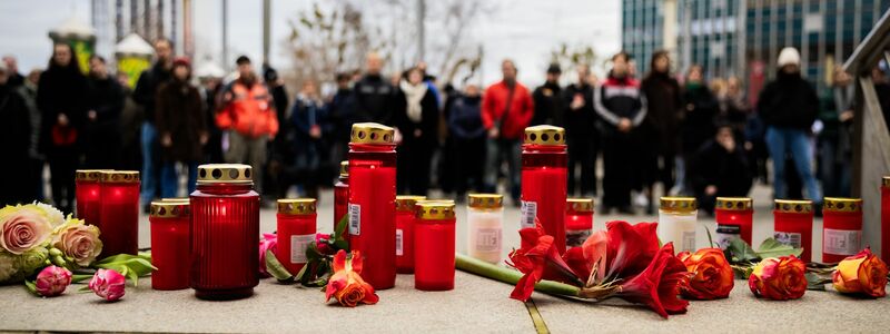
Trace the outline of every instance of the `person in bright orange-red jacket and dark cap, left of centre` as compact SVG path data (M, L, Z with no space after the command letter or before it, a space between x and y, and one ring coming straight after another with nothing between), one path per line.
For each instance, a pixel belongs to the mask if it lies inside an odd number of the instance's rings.
M254 169L257 193L261 194L266 145L278 134L278 117L271 95L254 73L250 59L241 56L236 63L238 79L229 84L222 94L216 125L222 130L229 130L226 161L249 164Z

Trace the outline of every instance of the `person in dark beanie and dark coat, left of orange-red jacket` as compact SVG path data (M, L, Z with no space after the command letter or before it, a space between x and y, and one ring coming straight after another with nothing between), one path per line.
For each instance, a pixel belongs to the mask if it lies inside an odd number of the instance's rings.
M207 117L198 88L192 86L191 62L186 57L172 62L170 80L158 89L155 124L161 147L160 193L164 198L179 195L179 176L176 164L188 169L188 193L195 191L198 164L204 158L207 144Z

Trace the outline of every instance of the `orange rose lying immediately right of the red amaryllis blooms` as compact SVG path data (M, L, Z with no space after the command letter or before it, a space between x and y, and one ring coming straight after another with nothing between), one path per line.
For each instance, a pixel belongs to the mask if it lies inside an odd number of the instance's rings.
M676 255L686 271L692 273L689 284L682 287L683 296L693 299L719 299L729 297L734 285L732 267L720 248L702 248L690 254Z

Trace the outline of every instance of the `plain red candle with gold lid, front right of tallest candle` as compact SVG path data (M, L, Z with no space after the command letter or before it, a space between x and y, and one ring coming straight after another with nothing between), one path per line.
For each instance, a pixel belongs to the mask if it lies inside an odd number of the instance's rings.
M414 287L454 289L454 202L417 203L414 236Z

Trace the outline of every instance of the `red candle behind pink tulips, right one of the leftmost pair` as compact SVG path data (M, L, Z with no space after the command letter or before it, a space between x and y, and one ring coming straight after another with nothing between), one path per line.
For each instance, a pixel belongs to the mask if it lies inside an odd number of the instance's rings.
M139 252L139 171L100 171L99 258Z

